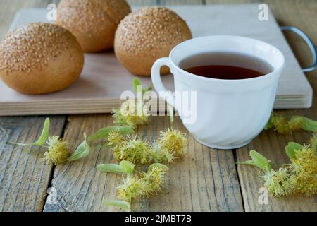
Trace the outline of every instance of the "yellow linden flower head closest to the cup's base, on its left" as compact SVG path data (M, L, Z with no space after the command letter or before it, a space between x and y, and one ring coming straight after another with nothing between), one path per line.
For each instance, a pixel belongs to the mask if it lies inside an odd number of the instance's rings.
M170 153L173 153L175 157L180 157L187 153L187 139L186 134L175 129L166 129L161 132L159 138L159 145Z

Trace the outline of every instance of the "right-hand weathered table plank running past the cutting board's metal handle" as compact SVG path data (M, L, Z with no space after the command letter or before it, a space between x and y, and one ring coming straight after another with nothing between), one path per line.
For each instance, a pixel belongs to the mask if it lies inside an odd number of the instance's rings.
M238 1L227 1L230 3L237 3ZM250 1L239 1L250 2ZM254 2L254 1L253 1ZM263 1L270 5L275 17L281 25L294 25L306 32L311 40L317 43L316 32L316 1ZM219 3L219 1L207 0L207 3ZM221 1L223 3L223 1ZM306 47L306 44L297 37L297 35L286 33L285 36L294 49L299 62L303 66L311 64L311 54ZM313 71L307 74L313 90L317 90L317 72ZM306 110L297 111L283 111L285 114L301 114L306 117L317 119L317 95L314 95L313 107ZM237 161L249 159L249 150L258 150L260 153L272 160L272 162L280 164L288 162L285 155L285 145L289 141L304 142L309 138L309 133L294 133L293 136L283 136L273 131L266 131L261 133L254 141L247 147L237 150ZM244 200L244 208L246 211L316 211L316 198L269 198L268 205L260 205L258 203L259 188L262 186L258 180L259 171L253 167L238 166L238 175L242 189Z

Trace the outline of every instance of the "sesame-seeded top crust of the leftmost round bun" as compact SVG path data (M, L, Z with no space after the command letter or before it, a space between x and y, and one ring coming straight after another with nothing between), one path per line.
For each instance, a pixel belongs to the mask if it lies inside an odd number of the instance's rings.
M49 35L49 37L48 37ZM17 28L0 42L0 65L8 71L27 71L48 64L68 49L75 39L66 29L49 23L29 23ZM46 59L46 61L45 61Z

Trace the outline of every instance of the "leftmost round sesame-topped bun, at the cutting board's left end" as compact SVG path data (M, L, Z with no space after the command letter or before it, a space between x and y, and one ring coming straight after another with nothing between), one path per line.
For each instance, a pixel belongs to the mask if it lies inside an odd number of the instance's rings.
M0 42L0 77L20 93L63 90L79 78L83 65L80 44L58 25L30 23Z

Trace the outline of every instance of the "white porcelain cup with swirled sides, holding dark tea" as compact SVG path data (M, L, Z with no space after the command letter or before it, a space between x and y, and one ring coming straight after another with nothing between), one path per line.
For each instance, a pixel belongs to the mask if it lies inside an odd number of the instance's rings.
M272 70L256 78L223 80L197 76L180 68L184 59L206 52L251 55L270 64ZM232 149L247 145L266 126L284 64L283 54L271 44L247 37L216 35L178 44L169 57L154 63L151 77L160 97L178 110L183 124L199 143L211 148ZM203 62L194 62L191 66L201 65ZM235 65L235 61L229 65ZM182 95L173 95L164 87L160 75L162 66L168 66L173 73L176 93L196 92L197 100L189 103L196 108L191 110L197 114L194 122L185 120L188 115L182 110Z

